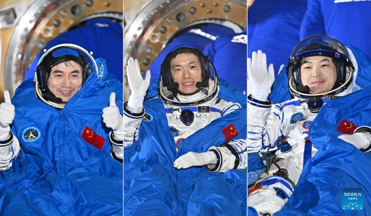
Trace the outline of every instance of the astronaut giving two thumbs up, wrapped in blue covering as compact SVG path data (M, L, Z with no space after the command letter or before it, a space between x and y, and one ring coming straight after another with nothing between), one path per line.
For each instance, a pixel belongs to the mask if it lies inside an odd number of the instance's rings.
M52 47L41 57L34 81L24 82L12 101L7 91L4 98L0 105L0 196L6 197L0 203L2 214L122 214L122 164L118 162L123 158L122 117L121 125L102 123L102 109L110 105L118 110L116 102L122 103L122 84L107 73L103 59L95 61L74 44ZM117 118L105 113L104 121ZM96 190L103 184L110 189ZM105 202L100 193L112 195L109 205L106 202L109 207L98 205Z

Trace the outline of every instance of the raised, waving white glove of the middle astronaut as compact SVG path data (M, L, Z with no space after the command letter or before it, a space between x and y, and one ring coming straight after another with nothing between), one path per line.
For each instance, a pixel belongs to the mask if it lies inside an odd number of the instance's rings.
M128 60L128 66L126 66L126 73L131 91L127 109L133 113L141 113L145 92L147 92L148 86L150 85L151 72L150 70L147 70L145 73L145 79L143 80L138 60L134 60L133 57L130 57Z

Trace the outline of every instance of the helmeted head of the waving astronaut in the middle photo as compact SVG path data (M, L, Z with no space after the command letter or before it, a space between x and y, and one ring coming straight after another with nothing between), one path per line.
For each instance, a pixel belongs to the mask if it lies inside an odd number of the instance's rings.
M213 79L210 79L210 75ZM187 106L216 98L218 76L209 56L200 50L180 45L170 51L161 64L158 91L165 104Z

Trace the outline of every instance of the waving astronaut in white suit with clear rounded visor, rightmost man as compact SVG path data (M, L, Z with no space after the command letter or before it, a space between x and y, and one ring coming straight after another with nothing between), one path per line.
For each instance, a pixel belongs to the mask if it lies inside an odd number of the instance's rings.
M293 99L273 105L268 99L274 81L273 65L267 69L261 50L253 52L247 63L252 90L247 108L248 150L277 150L276 156L281 159L279 169L269 173L273 175L252 186L248 206L255 213L273 215L285 205L305 163L317 152L308 138L311 122L323 104L352 93L357 63L351 50L338 40L325 35L308 37L292 51L286 67ZM353 134L339 138L369 152L369 131L354 127Z

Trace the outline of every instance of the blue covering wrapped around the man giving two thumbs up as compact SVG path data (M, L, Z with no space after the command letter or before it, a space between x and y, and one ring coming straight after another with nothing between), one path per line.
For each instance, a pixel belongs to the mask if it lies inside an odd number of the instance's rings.
M122 84L103 59L97 64L102 77L92 73L62 110L37 99L32 80L16 90L21 152L0 172L0 215L122 215L122 164L111 158L102 121L111 92L122 110Z

